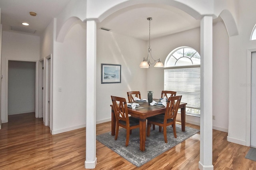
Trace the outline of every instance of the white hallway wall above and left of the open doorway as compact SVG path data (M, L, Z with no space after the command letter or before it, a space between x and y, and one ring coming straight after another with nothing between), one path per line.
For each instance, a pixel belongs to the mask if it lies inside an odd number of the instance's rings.
M1 119L2 123L8 120L7 109L7 73L6 62L12 60L37 61L40 54L40 38L16 32L2 32L2 84L1 84Z

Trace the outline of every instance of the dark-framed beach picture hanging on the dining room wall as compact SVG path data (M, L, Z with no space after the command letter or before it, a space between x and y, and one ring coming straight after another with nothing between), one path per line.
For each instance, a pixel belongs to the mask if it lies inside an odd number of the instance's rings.
M121 65L101 64L101 83L121 83Z

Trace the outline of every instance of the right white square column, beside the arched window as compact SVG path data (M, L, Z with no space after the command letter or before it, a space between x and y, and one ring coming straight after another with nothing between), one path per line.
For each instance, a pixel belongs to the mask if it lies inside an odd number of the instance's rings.
M200 170L212 165L212 16L201 20Z

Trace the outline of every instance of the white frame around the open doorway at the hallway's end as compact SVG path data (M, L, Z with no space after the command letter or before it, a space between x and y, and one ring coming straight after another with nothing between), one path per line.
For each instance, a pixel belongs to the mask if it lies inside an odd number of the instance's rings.
M36 63L36 84L35 84L35 117L38 117L38 60L26 60L26 59L6 59L6 67L5 67L5 116L6 121L8 122L8 69L9 69L9 61L24 61L24 62L34 62Z

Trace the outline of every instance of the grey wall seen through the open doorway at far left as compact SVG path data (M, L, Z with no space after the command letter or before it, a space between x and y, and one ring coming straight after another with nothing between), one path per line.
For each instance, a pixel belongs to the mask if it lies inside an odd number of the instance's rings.
M8 115L35 112L36 63L9 61Z

